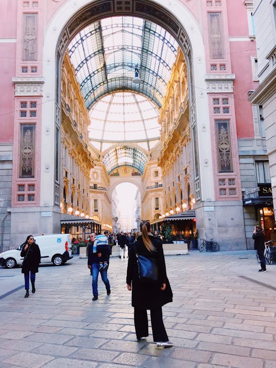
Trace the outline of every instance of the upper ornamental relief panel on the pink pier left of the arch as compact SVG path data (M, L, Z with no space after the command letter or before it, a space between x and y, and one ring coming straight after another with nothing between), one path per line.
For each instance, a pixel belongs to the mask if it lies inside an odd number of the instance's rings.
M37 60L37 14L23 15L22 60Z

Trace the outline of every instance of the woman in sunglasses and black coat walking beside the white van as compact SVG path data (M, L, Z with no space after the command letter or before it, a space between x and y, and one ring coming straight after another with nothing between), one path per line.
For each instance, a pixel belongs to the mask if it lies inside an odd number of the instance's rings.
M21 272L24 273L26 289L25 298L27 298L29 296L29 278L31 279L32 292L35 292L35 274L36 272L38 272L38 266L41 256L39 246L34 242L34 238L32 235L29 235L22 245L23 248L20 256L24 257L24 261L22 264Z

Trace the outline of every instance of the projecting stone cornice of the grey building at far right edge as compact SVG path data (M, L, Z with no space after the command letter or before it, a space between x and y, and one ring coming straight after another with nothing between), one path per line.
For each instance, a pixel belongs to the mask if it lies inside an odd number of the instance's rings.
M262 105L275 94L276 68L264 79L261 84L251 93L249 101L252 104Z

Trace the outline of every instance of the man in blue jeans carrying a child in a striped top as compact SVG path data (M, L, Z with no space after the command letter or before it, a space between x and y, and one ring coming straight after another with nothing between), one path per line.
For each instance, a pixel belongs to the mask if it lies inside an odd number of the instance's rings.
M105 237L105 235L102 235ZM87 267L91 270L92 275L92 292L93 292L93 301L98 299L98 277L99 273L101 276L101 280L103 281L106 289L107 295L110 294L110 284L107 278L107 269L100 269L100 257L97 253L97 241L95 241L96 237L95 234L90 235L90 241L88 242L88 260L87 260ZM99 249L98 249L99 251Z

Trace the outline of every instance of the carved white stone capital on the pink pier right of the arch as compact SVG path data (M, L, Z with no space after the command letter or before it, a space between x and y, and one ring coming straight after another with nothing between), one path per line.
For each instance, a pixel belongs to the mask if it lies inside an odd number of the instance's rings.
M207 93L233 92L235 74L207 74L205 76Z

